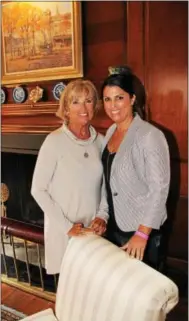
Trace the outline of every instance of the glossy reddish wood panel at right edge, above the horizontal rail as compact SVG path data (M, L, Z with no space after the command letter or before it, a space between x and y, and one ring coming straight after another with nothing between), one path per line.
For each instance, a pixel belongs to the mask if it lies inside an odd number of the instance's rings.
M146 3L145 65L150 119L169 129L187 160L187 2Z

